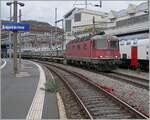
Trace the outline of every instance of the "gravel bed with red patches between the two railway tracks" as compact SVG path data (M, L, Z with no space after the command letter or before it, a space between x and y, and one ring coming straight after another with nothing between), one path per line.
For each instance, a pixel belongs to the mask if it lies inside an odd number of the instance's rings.
M58 64L57 64L58 65ZM114 80L98 73L83 70L81 68L59 64L61 67L85 75L94 82L105 86L112 91L112 94L138 109L142 113L149 115L149 91L134 85Z

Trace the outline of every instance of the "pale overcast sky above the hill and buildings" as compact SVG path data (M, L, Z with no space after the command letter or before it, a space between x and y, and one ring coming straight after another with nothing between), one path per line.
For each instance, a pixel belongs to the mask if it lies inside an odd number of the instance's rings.
M128 0L128 1L102 1L102 8L94 7L88 5L88 9L93 9L96 11L109 12L110 10L122 10L126 9L128 5L135 4L138 5L146 0L136 1L136 0ZM8 1L7 1L8 2ZM51 25L54 25L55 21L55 8L57 8L57 19L62 19L63 16L71 10L73 7L84 8L85 5L74 5L74 4L84 4L84 1L81 0L72 0L72 1L22 1L25 6L19 7L22 9L22 20L37 20L48 22ZM99 4L98 0L88 1L88 4ZM6 1L1 1L1 19L8 20L9 19L9 7L6 6ZM59 26L61 26L59 24Z

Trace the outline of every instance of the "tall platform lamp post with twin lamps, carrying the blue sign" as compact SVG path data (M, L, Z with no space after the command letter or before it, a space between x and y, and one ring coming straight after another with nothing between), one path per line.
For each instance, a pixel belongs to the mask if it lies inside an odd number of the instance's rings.
M13 4L13 22L17 22L17 10L18 10L18 4L23 7L24 3L18 2L17 0L14 0L13 2L7 2L6 3L8 6L11 6ZM13 31L13 58L14 58L14 74L18 72L18 67L17 67L17 31Z

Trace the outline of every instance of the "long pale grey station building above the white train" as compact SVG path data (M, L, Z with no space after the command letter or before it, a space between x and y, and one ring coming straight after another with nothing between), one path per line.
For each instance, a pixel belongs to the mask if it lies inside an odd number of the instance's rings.
M140 5L129 4L125 10L111 11L108 18L114 22L113 26L105 29L106 33L112 35L123 35L149 30L148 3Z

